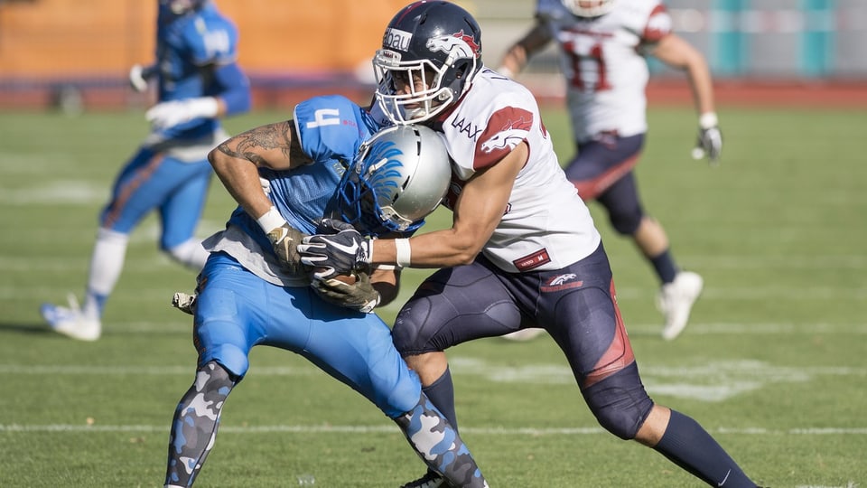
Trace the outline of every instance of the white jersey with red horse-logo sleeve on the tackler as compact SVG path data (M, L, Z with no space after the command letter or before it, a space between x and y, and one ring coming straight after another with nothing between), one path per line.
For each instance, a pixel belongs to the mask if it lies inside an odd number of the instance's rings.
M383 117L378 105L373 113ZM499 268L561 269L599 247L601 238L590 211L566 179L529 90L482 68L461 102L439 117L434 128L443 132L452 156L449 204L473 174L527 142L527 164L517 174L503 218L482 249Z

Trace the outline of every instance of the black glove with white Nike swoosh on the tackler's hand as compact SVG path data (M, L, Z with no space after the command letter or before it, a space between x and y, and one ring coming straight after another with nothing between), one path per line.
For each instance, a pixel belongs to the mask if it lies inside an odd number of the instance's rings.
M368 267L373 258L373 241L350 224L322 219L316 232L298 246L301 262L313 267L313 279L329 279Z

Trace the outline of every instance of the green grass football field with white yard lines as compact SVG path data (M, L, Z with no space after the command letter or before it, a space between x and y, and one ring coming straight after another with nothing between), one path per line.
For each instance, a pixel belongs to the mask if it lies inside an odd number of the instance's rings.
M722 110L719 167L689 159L695 116L653 109L639 183L676 258L704 275L693 321L659 338L657 283L592 211L658 402L704 425L757 482L867 486L867 169L863 114ZM228 121L232 132L281 117ZM545 113L571 155L564 114ZM104 336L74 342L39 305L81 296L98 211L147 127L129 113L0 113L0 486L160 486L169 422L195 368L172 292L194 273L132 237ZM214 181L201 237L234 208ZM448 225L437 211L430 227ZM426 272L405 274L402 302ZM397 305L383 310L387 321ZM499 488L686 487L661 455L601 431L547 337L450 352L461 431ZM291 353L256 348L197 486L397 486L424 466L397 428Z

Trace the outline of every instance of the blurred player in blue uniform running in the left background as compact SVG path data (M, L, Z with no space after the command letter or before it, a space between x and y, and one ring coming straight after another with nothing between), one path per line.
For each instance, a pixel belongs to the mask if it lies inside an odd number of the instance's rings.
M152 125L114 183L100 215L90 258L84 304L42 305L42 316L58 333L96 341L108 296L124 267L129 234L151 211L162 225L160 249L199 270L208 258L194 237L210 186L207 155L228 135L219 117L250 108L247 75L238 67L238 32L207 0L160 0L156 61L130 70L130 83L147 89L157 82L158 103L145 117Z

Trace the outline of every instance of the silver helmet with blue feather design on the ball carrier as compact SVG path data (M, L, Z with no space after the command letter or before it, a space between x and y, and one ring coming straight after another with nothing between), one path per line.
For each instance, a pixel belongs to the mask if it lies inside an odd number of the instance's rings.
M433 129L387 127L361 145L326 213L363 234L411 233L443 202L451 180L449 153Z

